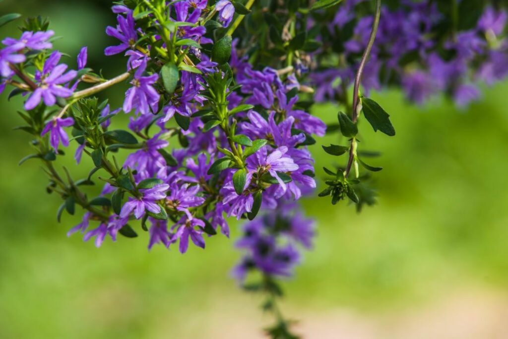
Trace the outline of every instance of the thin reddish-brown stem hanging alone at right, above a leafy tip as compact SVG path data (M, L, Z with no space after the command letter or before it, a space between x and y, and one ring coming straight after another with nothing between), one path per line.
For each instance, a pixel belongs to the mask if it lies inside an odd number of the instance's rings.
M362 82L362 75L363 70L365 69L365 64L367 63L367 60L369 59L370 52L372 51L372 46L374 45L374 41L376 39L377 34L377 28L379 27L379 20L381 18L381 0L376 0L376 9L374 14L374 22L372 23L372 30L370 31L370 37L369 42L367 43L367 47L365 48L365 51L363 52L362 59L360 61L360 66L358 67L358 72L356 74L355 78L355 86L353 89L353 122L356 123L358 121L358 100L359 100L359 93L360 93L360 83ZM350 156L347 160L347 166L344 171L344 177L347 178L351 172L351 167L353 166L353 162L355 161L356 157L356 148L357 148L357 142L356 138L353 138L351 140L351 147L350 147Z

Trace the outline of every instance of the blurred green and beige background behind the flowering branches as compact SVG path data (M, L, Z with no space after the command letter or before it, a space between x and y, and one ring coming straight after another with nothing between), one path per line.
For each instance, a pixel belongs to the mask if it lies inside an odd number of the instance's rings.
M0 14L48 16L72 57L89 47L89 64L106 77L121 57L103 56L115 17L108 0L5 0ZM20 21L17 22L18 24ZM16 23L2 37L19 35ZM121 104L119 86L105 95ZM466 110L444 100L405 103L397 91L373 96L392 115L395 138L362 126L379 203L357 214L346 204L308 198L317 220L314 250L283 284L282 308L306 338L408 339L508 337L508 83L485 88ZM107 241L97 249L67 230L78 217L55 220L59 199L45 193L16 99L0 99L0 338L262 338L271 319L258 295L229 277L239 258L232 239L215 236L206 250L146 250L148 236ZM337 107L316 106L324 120ZM328 138L330 139L330 138ZM323 140L322 143L332 140ZM330 164L313 147L316 168ZM69 156L69 158L71 158ZM65 163L83 176L72 159ZM318 172L320 173L320 172ZM92 193L91 193L92 194Z

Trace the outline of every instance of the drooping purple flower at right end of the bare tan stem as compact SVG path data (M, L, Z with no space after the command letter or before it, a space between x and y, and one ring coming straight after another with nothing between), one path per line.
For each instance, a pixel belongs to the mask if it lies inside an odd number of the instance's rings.
M131 112L133 108L136 109L136 112L139 111L142 114L149 114L150 110L157 112L158 100L161 96L152 85L157 81L158 75L152 74L143 77L145 69L146 61L143 60L134 74L133 81L131 81L134 86L125 92L125 101L123 101L123 111L125 113Z

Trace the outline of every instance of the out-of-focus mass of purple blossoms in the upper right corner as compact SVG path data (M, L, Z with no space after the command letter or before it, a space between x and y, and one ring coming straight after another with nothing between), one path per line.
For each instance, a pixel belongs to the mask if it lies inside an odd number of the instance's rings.
M364 0L344 2L327 26L330 41L354 28L339 57L347 61L310 75L318 101L343 95L354 80L373 21L372 16L357 19L355 8L361 3ZM503 9L487 6L474 27L454 29L440 40L435 37L442 36L439 29L449 15L436 2L403 1L395 10L383 7L381 18L362 80L367 92L396 85L417 104L448 93L463 107L480 98L481 83L491 85L508 75L507 14Z

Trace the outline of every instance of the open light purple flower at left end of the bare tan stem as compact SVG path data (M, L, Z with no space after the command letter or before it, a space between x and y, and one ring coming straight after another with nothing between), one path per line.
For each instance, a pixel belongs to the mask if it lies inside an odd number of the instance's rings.
M61 86L66 84L77 75L76 71L67 70L66 64L57 65L60 60L61 53L55 51L44 63L42 72L37 71L35 79L39 85L36 90L26 100L25 109L33 110L39 105L41 99L43 99L46 106L53 106L56 104L56 97L69 97L73 94L73 91L69 88Z

